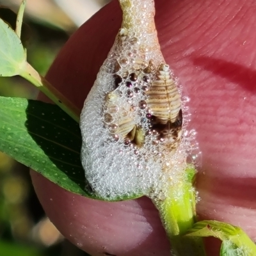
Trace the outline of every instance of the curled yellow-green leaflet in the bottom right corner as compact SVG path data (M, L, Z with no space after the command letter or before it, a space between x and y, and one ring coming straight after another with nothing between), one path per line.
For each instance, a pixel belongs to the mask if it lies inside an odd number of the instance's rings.
M256 255L255 244L241 228L221 221L198 221L188 230L186 236L213 236L220 239L222 241L220 256Z

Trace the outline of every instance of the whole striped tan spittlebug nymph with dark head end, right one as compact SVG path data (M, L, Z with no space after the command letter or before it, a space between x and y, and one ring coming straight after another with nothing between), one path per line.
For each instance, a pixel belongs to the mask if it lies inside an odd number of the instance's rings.
M177 148L182 136L182 110L177 85L170 77L169 65L159 66L156 79L145 93L152 115L152 129L158 132L158 140L170 149Z

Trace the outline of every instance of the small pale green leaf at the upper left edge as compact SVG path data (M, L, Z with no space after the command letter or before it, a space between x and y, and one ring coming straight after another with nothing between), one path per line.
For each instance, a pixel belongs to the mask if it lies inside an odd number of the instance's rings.
M26 65L26 51L19 36L0 19L0 76L16 76Z

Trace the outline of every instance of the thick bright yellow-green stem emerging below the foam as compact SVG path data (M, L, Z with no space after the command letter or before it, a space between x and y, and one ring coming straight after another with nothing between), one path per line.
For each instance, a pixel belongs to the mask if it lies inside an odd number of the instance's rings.
M175 256L204 256L201 237L184 236L193 227L195 218L195 190L192 181L182 180L168 189L164 200L152 199L163 222Z

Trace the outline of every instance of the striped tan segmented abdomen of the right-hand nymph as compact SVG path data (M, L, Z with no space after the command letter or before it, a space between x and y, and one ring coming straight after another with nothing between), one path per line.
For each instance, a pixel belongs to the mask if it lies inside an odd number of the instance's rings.
M181 108L180 95L177 86L170 77L168 65L161 65L157 70L157 79L152 83L149 90L147 103L161 124L168 120L175 122Z

